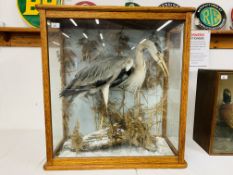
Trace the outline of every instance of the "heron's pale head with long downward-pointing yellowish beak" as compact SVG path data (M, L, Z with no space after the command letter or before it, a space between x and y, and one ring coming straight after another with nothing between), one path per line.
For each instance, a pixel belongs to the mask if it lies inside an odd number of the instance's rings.
M156 48L155 44L152 41L150 41L148 39L142 40L139 43L137 49L139 49L140 51L147 49L148 52L150 53L150 55L152 56L152 58L157 62L157 64L163 70L164 75L166 77L168 76L168 69L167 69L166 63L164 61L163 55L161 53L159 53L158 49Z

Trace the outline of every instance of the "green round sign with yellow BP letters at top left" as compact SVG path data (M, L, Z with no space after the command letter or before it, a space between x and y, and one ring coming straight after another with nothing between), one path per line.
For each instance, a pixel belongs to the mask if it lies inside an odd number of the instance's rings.
M40 27L40 16L36 5L59 5L62 0L17 0L20 15L32 27Z

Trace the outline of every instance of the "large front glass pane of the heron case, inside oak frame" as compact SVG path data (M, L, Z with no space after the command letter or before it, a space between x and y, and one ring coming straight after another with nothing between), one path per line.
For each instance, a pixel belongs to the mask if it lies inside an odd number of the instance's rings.
M48 19L54 154L174 155L183 21Z

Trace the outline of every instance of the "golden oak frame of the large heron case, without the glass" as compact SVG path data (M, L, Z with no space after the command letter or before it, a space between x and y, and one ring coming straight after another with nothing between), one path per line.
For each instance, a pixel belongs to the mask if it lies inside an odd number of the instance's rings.
M185 168L185 128L188 97L189 48L191 16L194 8L158 7L79 7L79 6L37 6L41 21L41 47L43 64L44 109L46 129L46 170L69 169L125 169L125 168ZM53 154L53 133L51 119L51 93L48 61L47 18L80 19L134 19L134 20L182 20L184 21L184 40L181 74L181 105L179 121L178 150L171 148L174 156L133 156L133 157L81 157L59 158ZM63 141L62 141L63 142Z

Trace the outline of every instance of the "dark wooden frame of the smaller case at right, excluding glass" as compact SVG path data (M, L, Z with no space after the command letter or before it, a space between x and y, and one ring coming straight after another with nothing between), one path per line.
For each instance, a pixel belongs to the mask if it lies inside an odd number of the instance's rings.
M193 140L209 155L213 156L233 155L233 152L227 153L223 150L214 150L215 145L218 144L215 141L215 134L220 118L220 105L222 104L222 101L220 101L220 99L222 100L222 91L220 91L221 81L230 81L222 80L221 76L233 76L233 71L215 69L198 70ZM226 122L221 122L224 123L224 128L228 128ZM224 131L219 129L218 132L222 134ZM214 142L216 143L214 144Z

